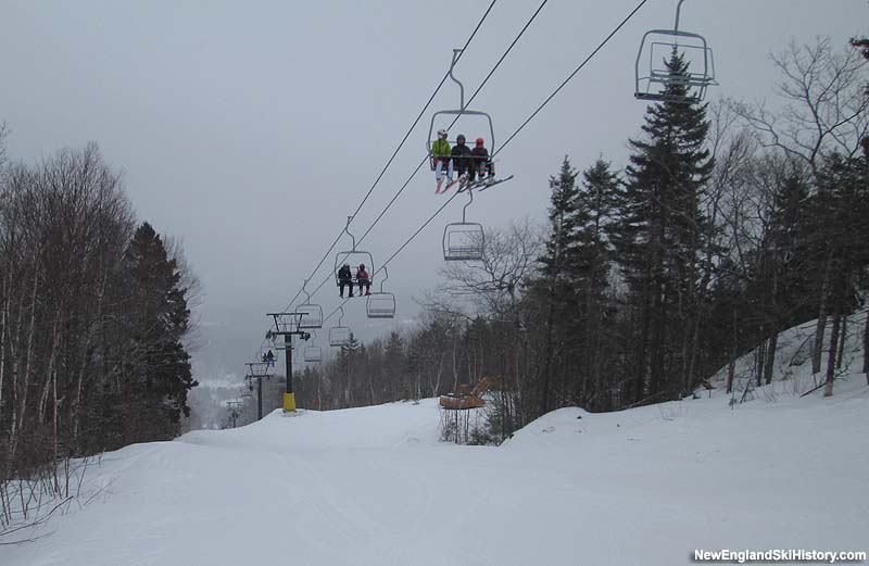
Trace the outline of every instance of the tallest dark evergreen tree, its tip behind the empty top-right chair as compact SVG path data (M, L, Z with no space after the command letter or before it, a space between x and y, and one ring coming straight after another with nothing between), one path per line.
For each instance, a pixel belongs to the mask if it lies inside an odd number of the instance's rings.
M668 62L676 77L666 92L683 97L679 80L688 64L679 53ZM691 348L697 315L696 284L704 217L700 197L711 171L705 149L706 106L665 101L651 106L642 127L645 139L631 140L622 223L616 238L629 288L633 344L632 398L676 397ZM691 381L689 378L688 382Z

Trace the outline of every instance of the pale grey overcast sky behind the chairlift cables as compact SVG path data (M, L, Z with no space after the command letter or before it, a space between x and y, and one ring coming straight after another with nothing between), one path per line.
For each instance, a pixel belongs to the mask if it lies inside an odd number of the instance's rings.
M550 1L473 104L492 115L496 138L512 134L638 2ZM496 2L456 68L466 96L539 3ZM473 219L542 222L547 178L565 154L578 168L599 155L624 166L645 110L633 98L640 39L671 27L676 4L648 0L504 150L499 173L516 177L481 193ZM242 375L268 327L265 313L287 306L301 288L488 5L2 0L0 121L12 130L9 153L34 162L96 141L123 171L138 217L180 238L202 279L198 316L207 343L197 354L197 378ZM869 32L869 4L688 0L680 27L714 49L720 86L709 99L774 100L770 51L816 36L844 46ZM432 109L457 105L458 89L448 83ZM425 155L430 115L355 219L357 237ZM433 190L424 169L375 227L362 248L376 264L440 206ZM463 204L453 201L390 264L395 320L368 325L363 301L348 305L345 322L366 327L364 338L414 317L412 298L437 282L443 225L461 218ZM313 302L331 312L335 287Z

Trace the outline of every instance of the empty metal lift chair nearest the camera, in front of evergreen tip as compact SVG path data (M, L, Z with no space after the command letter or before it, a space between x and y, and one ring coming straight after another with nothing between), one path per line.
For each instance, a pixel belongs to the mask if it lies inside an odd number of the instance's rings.
M718 84L715 80L713 50L706 39L698 34L679 29L682 2L684 0L679 0L676 7L672 29L651 29L643 35L634 67L633 96L640 100L680 104L702 102L706 97L706 88ZM667 66L676 54L680 54L689 64L684 73L672 73ZM640 64L646 56L647 74L646 70L640 70ZM672 87L683 88L675 91Z

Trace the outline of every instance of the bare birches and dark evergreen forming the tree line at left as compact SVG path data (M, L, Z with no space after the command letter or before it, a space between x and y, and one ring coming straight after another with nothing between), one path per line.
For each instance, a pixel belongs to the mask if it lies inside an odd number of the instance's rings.
M38 490L68 495L72 458L179 432L197 385L184 339L198 284L177 244L137 224L96 144L0 167L7 525Z

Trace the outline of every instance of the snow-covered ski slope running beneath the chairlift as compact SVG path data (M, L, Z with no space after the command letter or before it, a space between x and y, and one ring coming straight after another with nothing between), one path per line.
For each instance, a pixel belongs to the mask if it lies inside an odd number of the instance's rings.
M564 408L500 448L439 442L436 400L276 412L106 454L86 475L79 500L92 500L28 532L47 537L0 546L0 564L671 566L695 549L865 551L869 388L855 369L821 394Z

